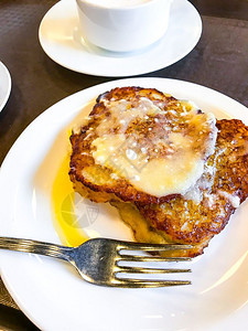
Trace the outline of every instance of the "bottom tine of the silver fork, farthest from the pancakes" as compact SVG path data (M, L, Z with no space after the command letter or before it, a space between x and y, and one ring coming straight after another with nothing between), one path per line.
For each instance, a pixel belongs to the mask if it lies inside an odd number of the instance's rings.
M145 279L118 279L112 286L128 288L152 288L152 287L169 287L179 285L191 285L190 280L145 280Z

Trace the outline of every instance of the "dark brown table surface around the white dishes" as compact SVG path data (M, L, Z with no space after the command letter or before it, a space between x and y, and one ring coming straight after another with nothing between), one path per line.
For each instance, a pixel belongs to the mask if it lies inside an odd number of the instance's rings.
M0 164L25 127L62 98L114 78L66 70L45 55L37 29L54 0L0 1L0 61L12 92L0 113ZM180 62L144 77L184 79L217 89L248 106L248 1L192 0L203 19L196 47ZM37 330L24 314L0 305L0 330Z

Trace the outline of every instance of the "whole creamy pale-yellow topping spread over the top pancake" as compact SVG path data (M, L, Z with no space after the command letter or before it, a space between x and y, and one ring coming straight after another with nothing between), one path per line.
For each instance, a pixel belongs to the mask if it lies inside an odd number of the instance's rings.
M166 113L144 97L136 107L119 100L111 102L108 109L110 116L96 128L98 138L91 142L91 154L96 163L111 170L111 178L125 178L134 188L158 197L185 194L195 185L203 174L205 159L214 151L217 129L213 114L197 114L195 106L187 104L182 119L177 111L169 109L170 116L174 116L169 118L169 129L160 129L162 138L154 137L152 142L148 139L144 142L150 145L143 146L136 135L126 135L130 122L138 119L149 135L160 125L155 116ZM147 120L153 120L153 127ZM187 131L180 131L177 120L183 120Z

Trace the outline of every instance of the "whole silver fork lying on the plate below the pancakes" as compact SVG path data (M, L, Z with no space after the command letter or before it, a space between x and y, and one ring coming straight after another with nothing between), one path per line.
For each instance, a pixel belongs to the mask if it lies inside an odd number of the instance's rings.
M188 257L162 257L158 252L188 249L188 245L174 244L140 244L107 238L94 238L77 247L66 247L37 241L0 237L0 248L46 255L71 263L80 276L91 284L111 287L164 287L190 285L188 280L137 279L121 277L126 274L168 274L188 273L191 269L175 268L142 268L137 266L120 266L120 261L184 261ZM141 250L141 254L137 254ZM134 255L132 255L133 253ZM144 253L152 255L144 256Z

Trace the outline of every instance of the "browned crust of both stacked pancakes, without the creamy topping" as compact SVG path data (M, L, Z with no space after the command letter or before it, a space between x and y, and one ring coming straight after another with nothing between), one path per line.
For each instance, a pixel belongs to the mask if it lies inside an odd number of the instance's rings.
M71 137L71 180L82 195L87 194L95 202L110 201L119 209L137 241L192 244L192 249L181 254L200 255L211 238L224 229L239 202L248 196L248 127L237 119L217 120L215 152L207 160L203 177L190 192L192 196L173 194L157 197L134 189L121 177L114 179L111 171L96 164L90 154L90 142L98 137L94 128L108 117L104 100L125 98L133 102L140 95L162 103L164 110L170 107L180 111L175 98L157 89L126 87L100 95L90 114L93 119L89 118L80 132ZM201 195L201 201L194 199L194 191Z

